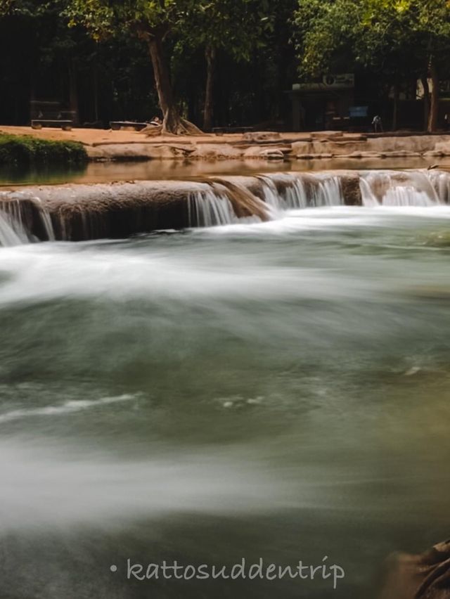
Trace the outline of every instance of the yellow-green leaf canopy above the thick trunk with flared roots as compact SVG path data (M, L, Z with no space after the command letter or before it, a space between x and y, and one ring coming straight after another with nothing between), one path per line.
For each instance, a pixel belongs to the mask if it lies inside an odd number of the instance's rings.
M84 25L95 39L129 30L145 37L162 31L176 37L179 49L224 48L237 59L264 44L273 30L276 3L269 0L70 0L69 25Z

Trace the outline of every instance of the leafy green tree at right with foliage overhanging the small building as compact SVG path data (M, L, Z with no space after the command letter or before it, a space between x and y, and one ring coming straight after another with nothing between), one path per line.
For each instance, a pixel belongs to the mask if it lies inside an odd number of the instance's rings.
M448 72L450 50L447 0L299 0L294 23L304 75L329 70L343 53L394 82L396 98L401 75L425 83L430 76L428 130L437 128L439 73Z

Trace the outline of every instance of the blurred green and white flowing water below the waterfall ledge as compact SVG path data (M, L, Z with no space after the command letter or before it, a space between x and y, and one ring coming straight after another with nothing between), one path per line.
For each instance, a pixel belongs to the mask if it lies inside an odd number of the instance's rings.
M337 206L1 247L1 598L377 596L387 555L448 536L449 224ZM127 580L325 556L336 590Z

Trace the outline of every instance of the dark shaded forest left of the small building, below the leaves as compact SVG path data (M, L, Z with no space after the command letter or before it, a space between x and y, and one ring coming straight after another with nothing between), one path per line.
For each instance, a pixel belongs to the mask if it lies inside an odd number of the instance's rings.
M96 41L84 27L68 27L60 16L63 3L52 4L39 15L31 6L30 13L0 18L0 122L28 124L30 99L65 101L77 110L79 124L161 115L144 41L120 30ZM293 12L295 2L283 4ZM289 113L285 90L296 77L296 62L283 17L248 60L217 51L213 124L264 124ZM174 93L186 117L202 127L205 51L177 43L168 39L165 48Z

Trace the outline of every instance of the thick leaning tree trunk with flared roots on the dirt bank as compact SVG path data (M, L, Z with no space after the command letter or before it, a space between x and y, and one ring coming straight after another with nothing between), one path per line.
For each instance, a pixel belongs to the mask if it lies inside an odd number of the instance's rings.
M172 83L170 82L169 69L162 50L162 34L155 32L148 39L148 49L152 59L153 73L155 75L156 91L160 101L163 120L162 127L146 129L146 134L201 134L200 129L194 124L181 118L178 107L174 101Z

